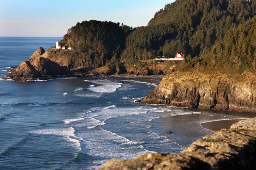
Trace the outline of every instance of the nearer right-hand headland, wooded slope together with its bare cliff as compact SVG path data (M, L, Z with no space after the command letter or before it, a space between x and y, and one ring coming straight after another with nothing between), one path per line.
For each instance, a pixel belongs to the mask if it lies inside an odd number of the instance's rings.
M183 60L141 103L256 112L256 17L202 57Z

